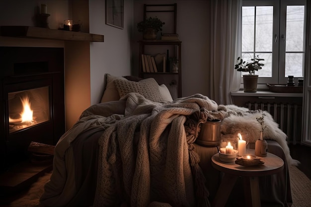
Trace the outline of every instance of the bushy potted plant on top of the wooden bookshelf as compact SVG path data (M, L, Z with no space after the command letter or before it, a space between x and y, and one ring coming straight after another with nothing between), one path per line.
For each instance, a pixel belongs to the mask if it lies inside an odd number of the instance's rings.
M143 33L144 40L155 40L158 31L162 31L162 22L157 17L149 17L137 23L137 29Z

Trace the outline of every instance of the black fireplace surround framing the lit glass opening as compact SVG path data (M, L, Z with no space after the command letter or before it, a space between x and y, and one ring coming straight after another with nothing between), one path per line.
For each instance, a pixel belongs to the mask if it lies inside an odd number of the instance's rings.
M55 145L65 133L64 48L0 47L0 169L29 158L31 141ZM9 95L47 88L48 120L10 131ZM40 90L39 89L39 90ZM11 118L11 117L10 117Z

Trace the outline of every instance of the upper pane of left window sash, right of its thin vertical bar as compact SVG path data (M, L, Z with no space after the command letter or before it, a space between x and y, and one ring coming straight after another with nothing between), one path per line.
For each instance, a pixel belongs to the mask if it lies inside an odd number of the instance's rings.
M256 6L256 51L272 52L273 6Z

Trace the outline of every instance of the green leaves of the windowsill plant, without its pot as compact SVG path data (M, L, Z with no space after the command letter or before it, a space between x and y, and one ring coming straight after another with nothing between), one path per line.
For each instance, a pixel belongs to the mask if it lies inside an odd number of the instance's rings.
M264 64L259 63L259 61L264 61L264 59L259 58L259 56L251 59L251 61L252 62L250 63L245 63L242 58L238 57L234 69L237 71L248 72L248 74L253 75L255 74L255 70L258 71L258 69L262 69L262 66L264 66Z

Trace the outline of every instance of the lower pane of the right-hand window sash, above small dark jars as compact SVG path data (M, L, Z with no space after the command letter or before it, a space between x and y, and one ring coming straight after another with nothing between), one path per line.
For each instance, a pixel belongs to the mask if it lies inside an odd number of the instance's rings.
M303 53L286 53L285 55L285 77L303 77Z

